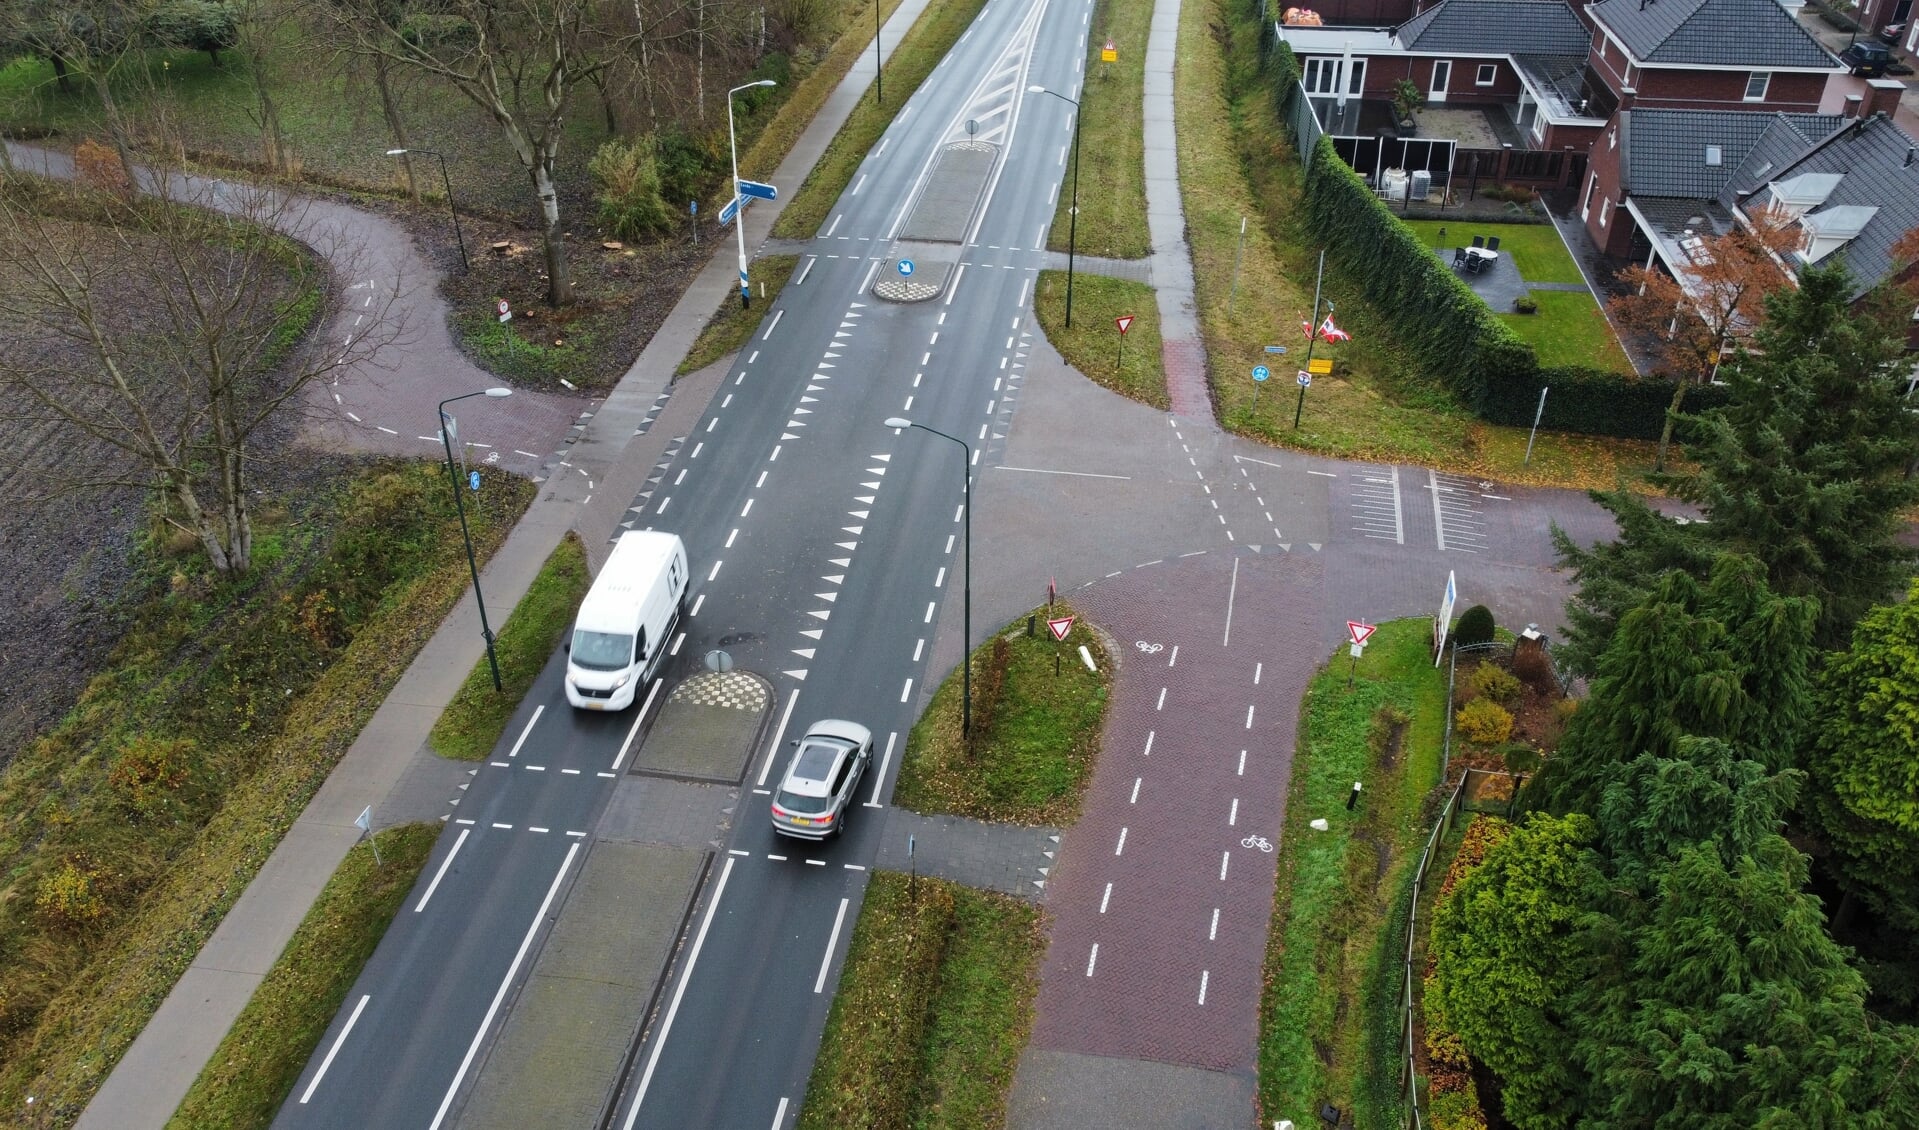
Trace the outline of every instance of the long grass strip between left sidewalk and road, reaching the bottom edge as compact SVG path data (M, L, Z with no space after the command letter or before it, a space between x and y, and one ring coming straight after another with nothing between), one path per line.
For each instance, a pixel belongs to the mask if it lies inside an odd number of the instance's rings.
M370 844L347 852L186 1092L169 1130L272 1122L438 838L438 823L413 823L380 829L380 865Z

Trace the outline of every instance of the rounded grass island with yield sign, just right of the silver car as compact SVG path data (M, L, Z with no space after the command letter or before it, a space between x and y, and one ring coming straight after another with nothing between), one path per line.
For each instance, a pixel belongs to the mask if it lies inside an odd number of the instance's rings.
M1044 620L1046 608L1034 614ZM1052 616L1075 616L1063 602ZM1086 645L1098 671L1078 658ZM1057 666L1057 675L1054 673ZM973 744L960 737L960 670L946 675L906 739L892 802L913 812L1067 825L1100 752L1111 687L1100 635L1077 618L1065 643L1015 622L973 652Z

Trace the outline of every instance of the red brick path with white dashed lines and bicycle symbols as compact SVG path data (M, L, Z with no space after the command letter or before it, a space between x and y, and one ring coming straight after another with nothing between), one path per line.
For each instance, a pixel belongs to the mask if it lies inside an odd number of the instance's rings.
M1046 898L1032 1048L1249 1072L1276 859L1257 840L1278 846L1324 658L1322 562L1213 551L1073 600L1123 660Z

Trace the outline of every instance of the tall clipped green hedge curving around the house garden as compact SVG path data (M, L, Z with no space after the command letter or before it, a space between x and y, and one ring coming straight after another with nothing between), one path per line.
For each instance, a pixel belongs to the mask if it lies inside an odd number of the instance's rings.
M1267 73L1280 117L1291 123L1286 106L1299 90L1299 63L1288 44L1276 44ZM1313 234L1347 278L1372 305L1393 311L1393 332L1422 376L1451 389L1480 418L1531 426L1539 389L1551 388L1541 428L1658 439L1673 382L1585 366L1543 368L1533 347L1366 188L1324 134L1307 163L1305 209ZM1685 407L1696 412L1723 403L1721 388L1700 386L1687 391Z

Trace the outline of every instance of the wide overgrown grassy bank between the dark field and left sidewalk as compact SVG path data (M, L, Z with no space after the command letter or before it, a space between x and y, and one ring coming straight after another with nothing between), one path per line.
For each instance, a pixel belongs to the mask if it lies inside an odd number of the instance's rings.
M533 485L482 474L484 558ZM255 530L240 579L144 551L107 668L0 775L0 1109L79 1117L466 589L434 464L376 462Z

